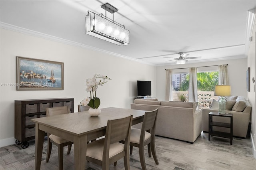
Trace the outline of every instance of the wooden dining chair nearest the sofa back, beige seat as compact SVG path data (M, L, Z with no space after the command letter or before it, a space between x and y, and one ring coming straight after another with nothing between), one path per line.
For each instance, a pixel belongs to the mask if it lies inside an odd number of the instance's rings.
M156 157L156 147L155 147L155 131L156 131L156 118L158 109L154 111L145 112L144 119L142 122L142 128L132 128L130 136L130 154L132 154L133 146L139 148L140 154L140 164L142 170L146 170L145 158L144 158L144 146L148 145L148 156L154 157L156 164L159 164Z

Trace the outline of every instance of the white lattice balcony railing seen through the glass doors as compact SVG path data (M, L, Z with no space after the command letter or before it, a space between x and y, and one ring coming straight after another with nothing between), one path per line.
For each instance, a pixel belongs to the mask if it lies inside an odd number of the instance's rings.
M214 91L198 91L198 108L210 107L213 99L218 100L218 96L214 96ZM188 101L188 91L172 91L172 101L180 101L179 96L184 95L185 101Z

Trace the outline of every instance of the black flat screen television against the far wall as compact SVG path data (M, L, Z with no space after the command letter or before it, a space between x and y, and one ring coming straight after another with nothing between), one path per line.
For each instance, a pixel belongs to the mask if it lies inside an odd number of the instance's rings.
M151 81L137 80L137 96L151 96Z

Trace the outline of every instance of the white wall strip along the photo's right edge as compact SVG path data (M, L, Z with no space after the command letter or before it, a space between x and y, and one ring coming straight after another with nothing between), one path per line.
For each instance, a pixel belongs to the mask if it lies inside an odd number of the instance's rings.
M256 82L252 83L252 77L256 78L256 22L252 31L252 42L248 52L248 67L250 67L250 92L248 92L248 100L252 104L252 127L251 127L251 140L253 142L253 153L256 158Z

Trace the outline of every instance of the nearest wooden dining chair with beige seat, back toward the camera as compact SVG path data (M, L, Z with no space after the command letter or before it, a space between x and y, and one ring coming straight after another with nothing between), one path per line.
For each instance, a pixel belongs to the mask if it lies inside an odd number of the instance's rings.
M131 126L132 115L108 120L105 138L87 144L86 160L102 166L103 170L108 170L110 164L124 157L125 170L130 170ZM121 140L124 140L124 144L119 142Z

